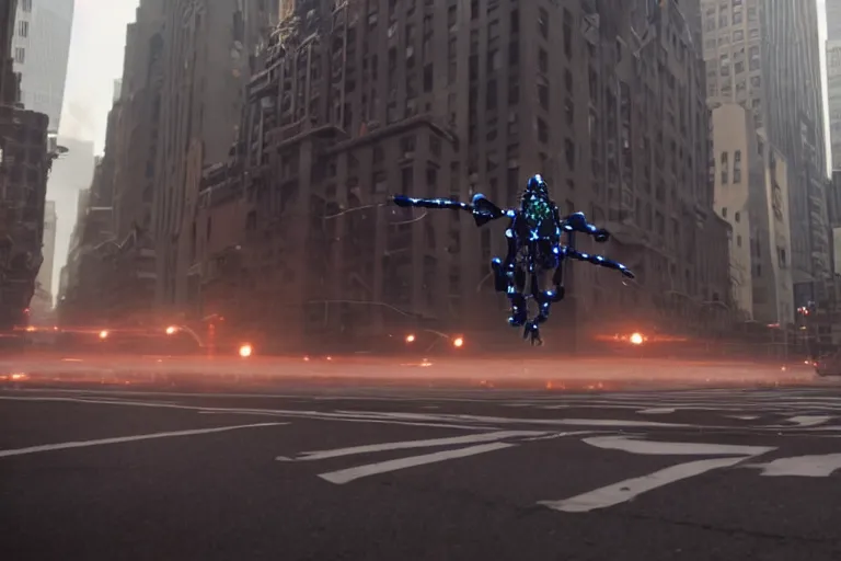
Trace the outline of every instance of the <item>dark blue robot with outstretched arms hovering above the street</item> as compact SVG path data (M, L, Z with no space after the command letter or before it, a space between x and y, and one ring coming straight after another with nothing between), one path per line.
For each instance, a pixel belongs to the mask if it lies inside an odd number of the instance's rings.
M484 195L476 194L472 203L460 203L447 198L413 198L395 195L394 204L400 207L448 208L466 210L473 215L477 227L498 218L510 220L505 230L508 252L504 260L491 261L494 286L506 293L511 302L508 323L523 328L522 337L532 345L542 344L540 324L549 319L553 302L564 298L564 263L567 259L586 261L594 265L613 268L627 278L634 274L625 265L601 255L583 253L575 249L575 234L586 233L603 243L610 239L607 230L589 224L584 213L574 213L562 218L557 205L549 196L549 186L543 178L533 175L520 196L520 207L503 210ZM562 243L566 233L567 243ZM543 273L553 271L552 288L541 289ZM529 319L528 300L538 304L538 314Z

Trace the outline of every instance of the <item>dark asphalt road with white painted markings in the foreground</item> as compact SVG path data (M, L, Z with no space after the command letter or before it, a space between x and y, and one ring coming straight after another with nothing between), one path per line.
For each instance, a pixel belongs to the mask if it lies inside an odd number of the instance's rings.
M0 392L0 559L837 560L831 385Z

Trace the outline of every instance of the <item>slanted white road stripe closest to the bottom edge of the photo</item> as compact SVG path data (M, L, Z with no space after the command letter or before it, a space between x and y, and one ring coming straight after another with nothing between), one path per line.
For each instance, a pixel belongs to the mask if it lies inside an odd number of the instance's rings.
M538 504L563 513L588 513L625 503L655 489L693 478L719 468L736 466L746 458L713 458L671 466L641 478L626 479L612 485L596 489L561 501L541 501Z

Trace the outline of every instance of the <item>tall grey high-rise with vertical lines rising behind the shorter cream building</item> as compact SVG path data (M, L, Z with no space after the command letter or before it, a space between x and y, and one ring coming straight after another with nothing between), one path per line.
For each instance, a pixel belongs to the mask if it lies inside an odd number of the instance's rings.
M752 111L786 162L797 306L826 296L830 274L826 154L815 2L702 0L710 102Z

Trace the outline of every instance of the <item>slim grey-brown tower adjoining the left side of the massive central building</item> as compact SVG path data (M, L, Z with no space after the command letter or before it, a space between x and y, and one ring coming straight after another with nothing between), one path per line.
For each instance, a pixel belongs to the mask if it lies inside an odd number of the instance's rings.
M265 2L165 2L163 83L154 168L153 230L157 299L162 309L187 305L189 229L201 169L228 158L235 142L257 36L268 23ZM277 3L275 3L277 5Z

